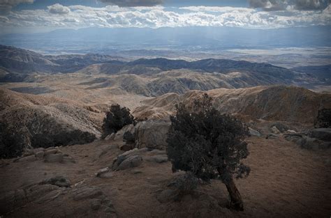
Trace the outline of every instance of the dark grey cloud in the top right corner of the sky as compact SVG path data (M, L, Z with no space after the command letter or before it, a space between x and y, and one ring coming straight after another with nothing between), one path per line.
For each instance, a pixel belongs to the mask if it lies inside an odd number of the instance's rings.
M329 0L249 0L251 8L263 10L323 10Z

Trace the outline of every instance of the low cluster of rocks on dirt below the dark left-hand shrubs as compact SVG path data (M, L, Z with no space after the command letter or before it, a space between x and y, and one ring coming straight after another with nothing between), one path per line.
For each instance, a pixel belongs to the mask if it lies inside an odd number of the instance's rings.
M33 162L36 160L43 160L48 163L75 163L75 159L62 153L59 147L27 150L22 157L14 159L14 162Z

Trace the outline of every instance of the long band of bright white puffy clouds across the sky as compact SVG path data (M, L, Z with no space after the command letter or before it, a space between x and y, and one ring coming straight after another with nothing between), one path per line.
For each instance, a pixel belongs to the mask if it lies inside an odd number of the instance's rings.
M121 8L105 6L68 6L70 13L48 10L12 11L0 17L0 26L54 26L58 28L150 27L164 26L236 26L270 29L289 26L330 25L330 6L324 10L264 11L254 8L163 6Z

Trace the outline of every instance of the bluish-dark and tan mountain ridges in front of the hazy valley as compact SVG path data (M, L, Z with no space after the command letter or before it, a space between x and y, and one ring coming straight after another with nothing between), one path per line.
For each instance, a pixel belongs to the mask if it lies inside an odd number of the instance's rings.
M290 70L268 63L227 59L184 61L159 58L128 61L119 56L102 54L43 56L16 47L0 46L1 82L31 82L36 78L38 80L36 75L75 73L93 75L80 82L80 85L89 89L119 88L145 96L274 84L309 87L329 81L328 73L314 75L314 72L306 73L304 69ZM325 69L330 70L327 67Z

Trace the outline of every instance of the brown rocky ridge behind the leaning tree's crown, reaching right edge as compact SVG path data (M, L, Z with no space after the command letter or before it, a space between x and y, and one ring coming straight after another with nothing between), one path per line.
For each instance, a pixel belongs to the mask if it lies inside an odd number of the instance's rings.
M253 88L219 88L189 91L183 95L168 93L145 100L133 114L139 118L162 118L175 111L175 104L193 101L207 93L213 98L214 106L223 113L248 115L265 120L284 120L314 123L318 109L331 108L331 95L320 94L294 86L257 86Z

